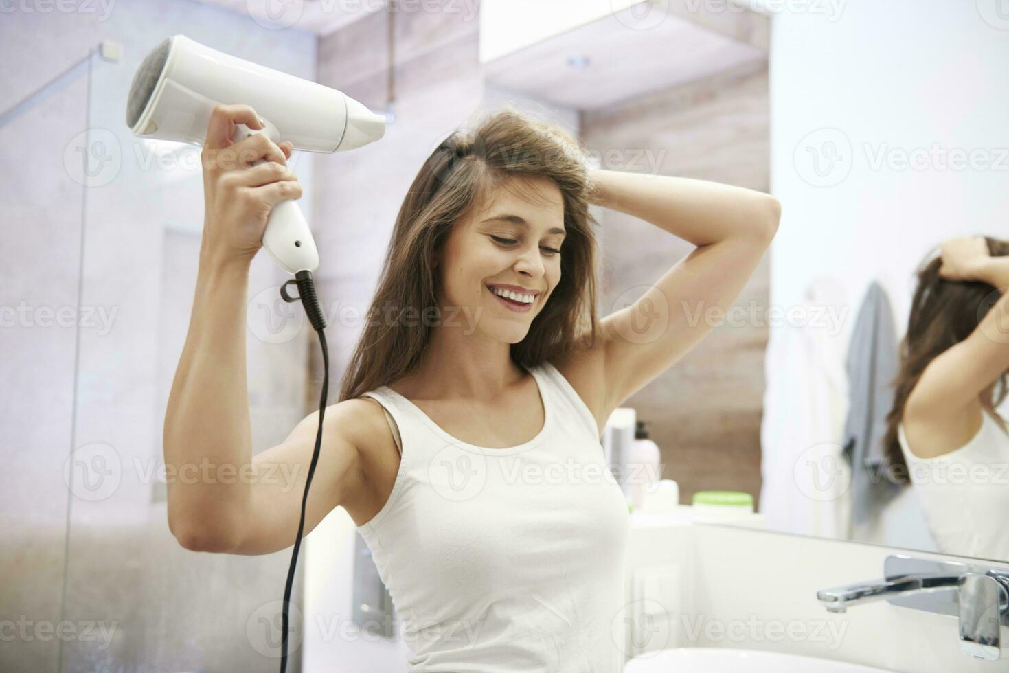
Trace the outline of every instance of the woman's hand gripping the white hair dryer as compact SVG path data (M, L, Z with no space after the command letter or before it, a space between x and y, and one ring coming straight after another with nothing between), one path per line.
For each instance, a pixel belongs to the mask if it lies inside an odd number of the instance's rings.
M302 186L288 165L293 145L276 144L265 133L233 143L236 124L263 128L251 107L217 105L201 152L206 205L202 252L215 261L251 260L262 246L273 206L302 196ZM253 165L260 158L266 160Z

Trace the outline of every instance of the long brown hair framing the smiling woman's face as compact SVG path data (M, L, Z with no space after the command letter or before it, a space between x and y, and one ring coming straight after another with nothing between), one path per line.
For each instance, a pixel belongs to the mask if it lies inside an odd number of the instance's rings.
M478 114L477 113L474 113ZM396 218L368 319L347 365L339 402L398 380L416 366L431 337L441 283L434 259L453 226L513 178L546 178L564 205L561 279L526 337L512 344L525 367L597 336L596 240L589 213L586 154L563 129L504 109L460 127L424 161ZM382 310L411 319L386 320Z

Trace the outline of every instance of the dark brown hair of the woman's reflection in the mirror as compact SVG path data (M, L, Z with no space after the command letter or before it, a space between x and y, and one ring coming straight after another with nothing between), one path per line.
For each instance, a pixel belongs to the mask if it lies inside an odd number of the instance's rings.
M993 257L1009 254L1009 241L985 236ZM911 315L907 334L900 344L900 371L891 383L894 386L893 408L886 417L887 432L883 438L888 476L895 483L907 484L908 468L897 439L897 427L904 416L904 405L921 373L936 355L966 339L978 327L994 305L996 289L982 281L950 281L939 275L942 257L933 249L918 266L917 288L911 300ZM985 305L988 306L985 306ZM1006 397L1007 374L998 379L998 407Z

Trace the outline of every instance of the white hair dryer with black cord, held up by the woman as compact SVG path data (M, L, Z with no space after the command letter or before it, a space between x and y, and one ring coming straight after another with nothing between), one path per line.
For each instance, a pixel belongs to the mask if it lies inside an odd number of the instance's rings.
M138 136L203 144L217 104L251 106L273 142L335 152L382 137L385 118L343 93L205 46L186 35L164 39L130 84L126 124ZM258 131L237 124L232 141ZM261 159L265 160L265 159ZM262 245L290 273L314 271L319 252L295 201L273 207Z

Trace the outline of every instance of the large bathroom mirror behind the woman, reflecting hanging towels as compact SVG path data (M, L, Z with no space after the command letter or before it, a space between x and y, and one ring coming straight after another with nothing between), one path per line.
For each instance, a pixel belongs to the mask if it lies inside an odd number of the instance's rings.
M714 180L783 205L736 305L682 307L715 329L624 405L646 422L681 504L742 491L758 515L742 525L1009 560L1009 534L987 523L1009 511L997 372L969 383L941 380L963 367L930 372L941 404L909 433L943 455L908 464L902 417L887 422L921 367L980 324L999 279L1009 285L1004 270L958 282L928 264L959 237L1006 251L1009 19L984 2L815 4L639 6L501 44L484 71L500 95L569 114L603 169ZM597 217L603 312L693 249L621 213ZM984 338L1009 348L1002 318ZM902 346L915 360L903 367ZM984 416L969 385L992 394Z

